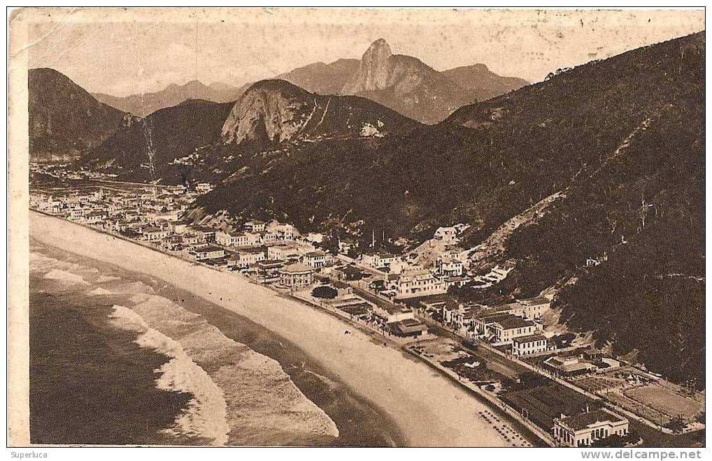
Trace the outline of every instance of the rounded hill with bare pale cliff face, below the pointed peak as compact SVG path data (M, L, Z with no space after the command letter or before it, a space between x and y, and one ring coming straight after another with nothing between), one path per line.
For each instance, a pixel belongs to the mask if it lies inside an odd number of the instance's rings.
M222 138L227 144L250 141L268 148L325 138L382 137L417 126L362 97L316 95L285 80L261 80L236 102Z

